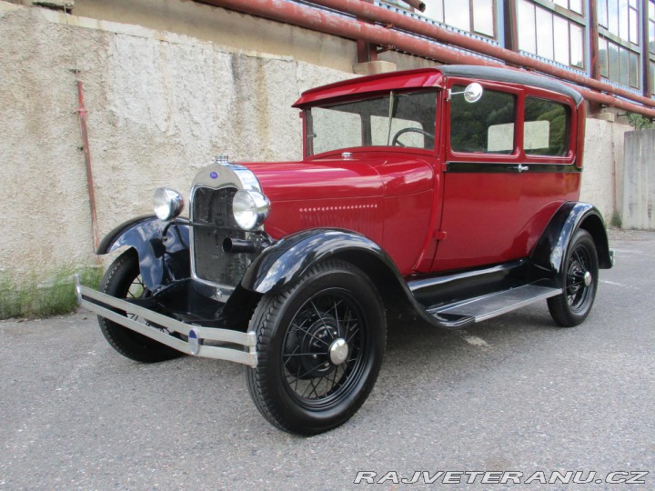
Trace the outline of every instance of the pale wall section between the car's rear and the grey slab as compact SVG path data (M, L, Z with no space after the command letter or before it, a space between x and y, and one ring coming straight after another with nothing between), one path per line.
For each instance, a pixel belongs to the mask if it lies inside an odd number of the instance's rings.
M580 201L599 208L610 225L623 198L623 135L630 125L587 119Z

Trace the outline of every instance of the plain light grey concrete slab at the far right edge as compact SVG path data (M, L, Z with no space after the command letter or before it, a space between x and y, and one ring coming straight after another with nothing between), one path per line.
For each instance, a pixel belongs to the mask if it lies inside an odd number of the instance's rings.
M655 129L625 136L623 226L655 229Z

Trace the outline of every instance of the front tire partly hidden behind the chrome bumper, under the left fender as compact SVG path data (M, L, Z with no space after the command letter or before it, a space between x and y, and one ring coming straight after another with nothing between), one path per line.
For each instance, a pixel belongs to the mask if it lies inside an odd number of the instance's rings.
M138 256L134 249L129 249L118 256L107 268L99 289L102 293L118 298L138 298L148 295L149 292L141 281ZM128 314L128 316L132 315ZM156 363L183 355L176 349L157 343L105 317L98 316L98 323L109 344L118 353L132 360Z

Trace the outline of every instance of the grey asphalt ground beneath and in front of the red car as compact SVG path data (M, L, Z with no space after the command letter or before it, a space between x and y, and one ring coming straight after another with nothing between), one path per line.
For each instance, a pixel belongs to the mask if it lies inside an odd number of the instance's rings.
M0 489L655 489L655 233L611 238L582 326L545 302L459 332L397 323L366 404L311 438L268 425L243 366L139 365L85 311L0 322ZM427 485L438 471L521 484ZM595 474L544 485L552 471Z

